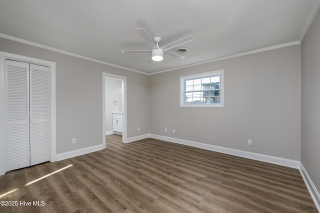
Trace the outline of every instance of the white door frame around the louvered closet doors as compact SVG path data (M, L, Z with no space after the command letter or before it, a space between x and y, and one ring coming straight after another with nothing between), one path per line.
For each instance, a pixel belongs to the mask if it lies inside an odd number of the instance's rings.
M6 76L4 73L5 59L17 60L26 63L48 66L50 73L50 113L49 113L49 161L56 161L56 114L55 114L55 62L38 58L18 55L14 53L0 51L0 175L5 174L6 170Z

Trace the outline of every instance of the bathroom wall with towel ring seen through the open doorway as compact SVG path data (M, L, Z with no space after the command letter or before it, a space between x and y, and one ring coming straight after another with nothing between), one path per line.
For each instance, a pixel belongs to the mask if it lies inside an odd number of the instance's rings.
M113 101L117 104L114 105ZM122 110L122 81L114 78L105 78L105 131L112 131L112 111Z

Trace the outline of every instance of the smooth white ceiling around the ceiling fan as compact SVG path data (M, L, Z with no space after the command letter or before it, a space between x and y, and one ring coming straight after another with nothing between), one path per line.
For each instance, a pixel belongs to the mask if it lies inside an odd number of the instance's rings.
M0 33L145 73L298 43L319 0L0 0ZM147 63L145 28L160 46L191 34L185 59ZM7 37L9 37L7 36ZM175 48L170 51L175 52ZM176 53L176 52L175 52Z

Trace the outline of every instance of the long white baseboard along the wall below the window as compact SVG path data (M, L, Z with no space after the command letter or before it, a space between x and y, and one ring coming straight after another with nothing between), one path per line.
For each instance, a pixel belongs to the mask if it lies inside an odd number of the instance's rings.
M202 148L202 149L207 149L211 151L217 151L225 154L231 154L235 156L240 156L240 157L245 157L249 159L254 159L254 160L259 160L263 162L269 162L277 165L283 165L291 168L299 168L300 167L300 161L298 160L291 160L291 159L286 159L286 158L281 158L281 157L275 157L271 155L266 155L266 154L259 154L259 153L254 153L250 151L243 151L243 150L238 150L234 148L227 148L223 146L218 146L218 145L211 145L211 144L206 144L206 143L201 143L201 142L195 142L195 141L190 141L190 140L184 140L184 139L178 139L174 137L167 137L167 136L162 136L162 135L157 135L157 134L149 134L149 137L155 138L155 139L160 139L160 140L166 140L169 142L174 142L174 143L179 143L183 145L189 145L197 148Z

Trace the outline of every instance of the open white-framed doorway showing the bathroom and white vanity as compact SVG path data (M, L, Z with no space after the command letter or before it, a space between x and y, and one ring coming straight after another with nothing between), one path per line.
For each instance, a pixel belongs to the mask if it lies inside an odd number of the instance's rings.
M126 142L126 77L102 73L102 135L121 134L122 143Z

